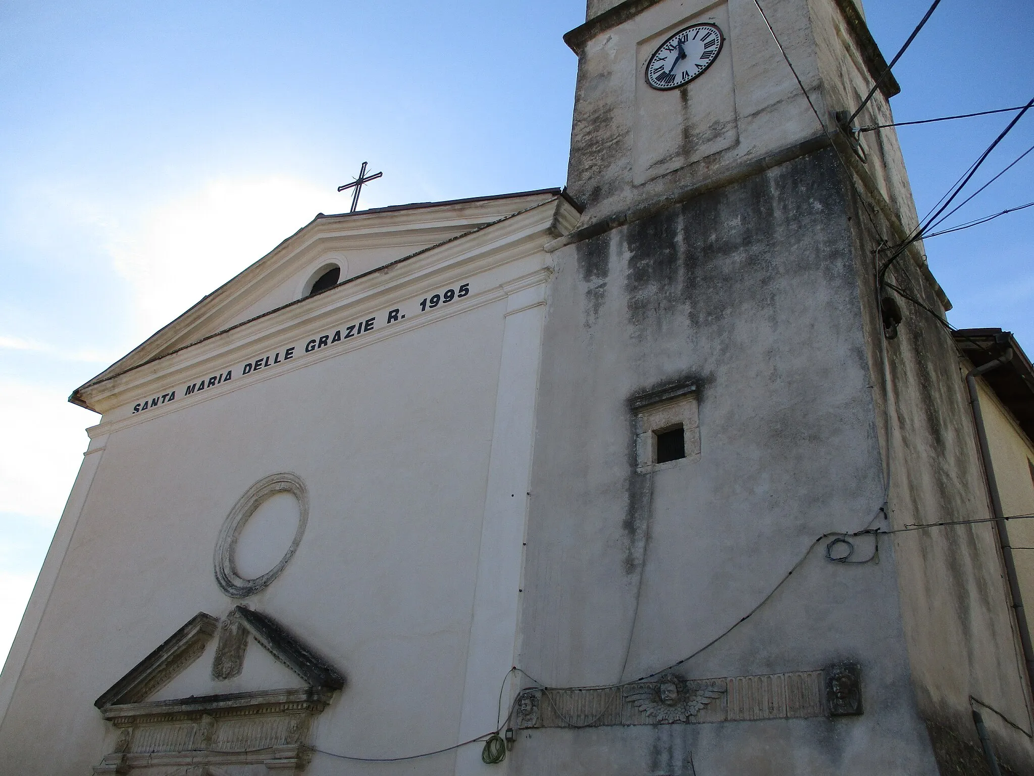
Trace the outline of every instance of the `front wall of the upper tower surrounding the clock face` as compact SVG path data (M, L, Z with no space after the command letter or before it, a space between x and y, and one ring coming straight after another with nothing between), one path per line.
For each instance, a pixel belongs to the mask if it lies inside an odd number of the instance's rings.
M773 0L766 12L826 115L807 0ZM714 64L689 88L647 87L645 62L657 47L703 22L725 35ZM568 186L585 206L583 226L823 135L753 0L662 0L578 48Z

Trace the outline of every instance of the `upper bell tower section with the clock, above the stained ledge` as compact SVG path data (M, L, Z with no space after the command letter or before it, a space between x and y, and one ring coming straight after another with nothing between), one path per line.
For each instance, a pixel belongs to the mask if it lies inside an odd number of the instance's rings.
M720 39L704 52L708 28ZM579 57L568 186L583 227L834 141L853 145L895 217L914 225L896 138L862 149L834 119L886 69L855 0L589 0L565 40ZM887 123L899 91L885 78L858 120Z

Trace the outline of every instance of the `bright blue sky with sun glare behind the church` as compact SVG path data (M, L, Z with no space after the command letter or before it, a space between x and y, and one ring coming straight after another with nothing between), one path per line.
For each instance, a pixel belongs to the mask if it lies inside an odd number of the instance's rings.
M778 0L768 0L777 2ZM889 59L927 0L870 0ZM583 0L0 2L0 655L96 416L72 388L307 222L562 185ZM944 0L900 121L1034 96L1034 6ZM1008 116L904 127L925 212ZM1034 145L1025 118L983 181ZM1034 153L951 222L1034 200ZM956 326L1034 354L1034 208L932 239Z

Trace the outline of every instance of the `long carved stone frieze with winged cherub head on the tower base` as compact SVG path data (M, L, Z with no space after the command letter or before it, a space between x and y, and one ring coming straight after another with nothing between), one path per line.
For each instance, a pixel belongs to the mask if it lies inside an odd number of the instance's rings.
M845 676L842 670L834 674ZM598 727L824 717L835 713L831 703L827 706L827 675L829 670L810 670L685 680L665 674L657 682L621 687L531 688L518 697L517 726ZM851 676L860 679L857 674ZM860 689L860 684L853 686ZM860 704L853 713L860 713Z

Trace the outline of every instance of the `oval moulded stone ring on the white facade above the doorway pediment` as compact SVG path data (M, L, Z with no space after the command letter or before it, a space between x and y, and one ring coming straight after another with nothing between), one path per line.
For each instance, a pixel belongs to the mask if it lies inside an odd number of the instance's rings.
M234 554L237 549L237 540L245 524L254 514L255 510L263 505L267 499L276 494L288 493L298 500L298 529L292 539L291 546L283 554L280 561L269 571L253 579L247 579L237 572L237 565ZM231 598L247 598L269 586L287 565L295 550L298 548L302 535L305 533L305 525L309 518L309 495L302 482L302 478L290 472L272 474L258 480L247 489L230 510L226 519L219 529L219 538L215 543L215 580L219 588Z

